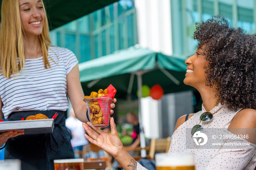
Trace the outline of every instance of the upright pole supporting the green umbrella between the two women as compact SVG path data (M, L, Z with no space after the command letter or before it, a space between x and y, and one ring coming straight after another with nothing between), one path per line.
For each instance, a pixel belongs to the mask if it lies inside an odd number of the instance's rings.
M143 125L142 125L142 116L141 116L141 104L140 104L140 99L142 98L142 70L139 70L136 72L137 79L138 79L138 100L139 100L139 126L140 126L140 147L144 148L146 147L146 140L145 140L145 135L144 135L144 130L143 130ZM146 150L141 150L141 157L146 157Z

